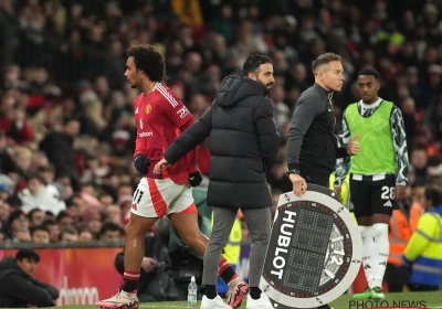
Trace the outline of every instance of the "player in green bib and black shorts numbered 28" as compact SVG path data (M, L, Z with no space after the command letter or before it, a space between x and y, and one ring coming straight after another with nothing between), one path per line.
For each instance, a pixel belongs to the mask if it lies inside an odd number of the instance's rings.
M356 299L383 299L382 279L389 255L388 223L406 195L409 160L402 114L393 103L378 96L379 73L365 68L358 74L361 100L350 104L343 117L344 142L360 132L360 151L337 161L335 191L350 173L350 199L362 236L362 262L368 288Z

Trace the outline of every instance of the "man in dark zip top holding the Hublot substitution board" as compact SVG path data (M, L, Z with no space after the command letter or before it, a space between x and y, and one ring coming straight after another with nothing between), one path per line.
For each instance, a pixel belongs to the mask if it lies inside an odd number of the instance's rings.
M328 188L336 158L359 151L358 135L347 146L338 147L333 127L332 96L344 85L341 58L334 53L319 55L312 64L315 84L296 103L287 138L287 166L293 192L302 195L307 183ZM330 308L328 305L320 309Z

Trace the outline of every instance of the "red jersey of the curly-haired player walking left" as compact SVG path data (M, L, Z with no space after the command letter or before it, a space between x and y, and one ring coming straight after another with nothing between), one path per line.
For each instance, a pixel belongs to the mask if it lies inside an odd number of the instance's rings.
M154 173L155 164L166 149L191 124L193 117L178 96L166 85L157 83L148 95L139 95L134 104L137 139L134 157L144 153L150 160L147 178L170 178L175 183L188 183L189 173L197 171L196 152L190 151L161 174Z

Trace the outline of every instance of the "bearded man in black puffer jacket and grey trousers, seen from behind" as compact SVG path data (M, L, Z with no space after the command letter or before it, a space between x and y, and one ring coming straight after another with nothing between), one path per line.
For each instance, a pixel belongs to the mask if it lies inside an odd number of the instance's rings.
M202 309L230 308L217 296L215 262L228 242L238 209L252 235L246 308L273 308L259 288L272 205L265 171L276 162L281 139L273 121L272 104L265 98L275 82L273 62L264 55L252 55L246 58L243 73L245 77L223 79L212 107L169 146L165 159L155 167L159 171L162 164L177 162L210 136L208 205L213 206L213 228L204 254ZM235 297L240 300L243 294L236 292ZM238 306L239 301L234 301L232 307Z

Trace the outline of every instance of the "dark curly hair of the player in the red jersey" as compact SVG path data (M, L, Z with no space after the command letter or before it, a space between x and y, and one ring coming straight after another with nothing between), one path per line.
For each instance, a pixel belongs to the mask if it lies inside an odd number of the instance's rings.
M134 57L135 67L141 70L152 82L166 79L166 62L152 45L134 45L127 50L127 57Z

